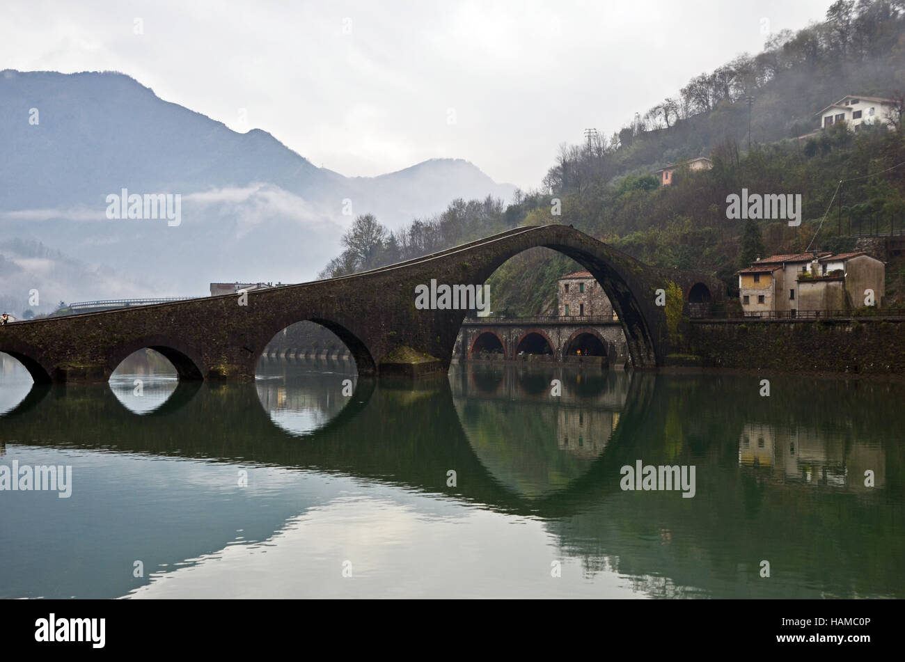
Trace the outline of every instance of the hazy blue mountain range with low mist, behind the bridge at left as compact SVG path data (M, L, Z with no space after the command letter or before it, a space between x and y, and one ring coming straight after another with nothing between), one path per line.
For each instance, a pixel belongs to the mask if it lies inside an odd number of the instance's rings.
M180 222L110 220L107 196L122 189L181 195ZM48 298L113 296L107 278L90 276L100 272L118 274L136 296L313 279L359 213L395 229L455 198L508 200L513 191L461 159L346 177L266 131L237 133L121 73L0 72L0 240L41 242L85 265L83 280L53 284L61 289ZM28 260L2 247L0 255L43 285Z

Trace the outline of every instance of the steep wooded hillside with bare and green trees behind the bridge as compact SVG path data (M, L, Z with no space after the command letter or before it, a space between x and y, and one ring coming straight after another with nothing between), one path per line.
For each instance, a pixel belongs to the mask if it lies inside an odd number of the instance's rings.
M823 23L776 33L764 52L692 79L632 127L589 146L561 147L542 191L517 192L508 206L491 197L456 200L398 232L381 230L373 216L358 217L344 237L346 250L320 275L549 222L572 224L648 264L710 271L730 295L735 271L760 255L852 250L852 233L905 227L905 103L896 91L905 88L903 26L905 2L838 0ZM814 113L849 93L897 99L891 127L815 130ZM749 94L756 100L748 151ZM681 165L701 155L712 169ZM671 186L661 186L651 172L670 161L679 161L679 169ZM743 187L801 194L802 225L728 220L727 196ZM887 266L892 306L905 303L903 267ZM557 277L576 268L553 251L526 251L491 277L493 307L511 315L550 312Z

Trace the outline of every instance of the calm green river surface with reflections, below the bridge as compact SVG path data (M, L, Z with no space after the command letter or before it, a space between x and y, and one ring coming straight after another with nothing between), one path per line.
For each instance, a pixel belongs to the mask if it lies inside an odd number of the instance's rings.
M0 472L71 467L0 491L0 598L905 598L902 384L0 359ZM639 461L693 485L624 489Z

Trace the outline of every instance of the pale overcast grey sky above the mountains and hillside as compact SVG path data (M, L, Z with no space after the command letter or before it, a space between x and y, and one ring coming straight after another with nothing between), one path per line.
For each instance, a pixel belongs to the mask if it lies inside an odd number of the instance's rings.
M611 134L830 4L7 1L0 69L122 71L343 175L454 157L529 188L559 143Z

